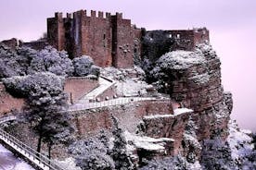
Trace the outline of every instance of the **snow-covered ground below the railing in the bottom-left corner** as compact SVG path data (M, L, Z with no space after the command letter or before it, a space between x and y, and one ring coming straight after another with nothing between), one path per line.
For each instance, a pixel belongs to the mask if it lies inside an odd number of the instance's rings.
M31 165L15 157L12 152L0 145L0 169L1 170L34 170Z

